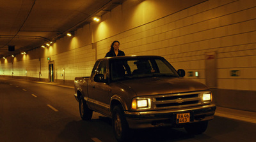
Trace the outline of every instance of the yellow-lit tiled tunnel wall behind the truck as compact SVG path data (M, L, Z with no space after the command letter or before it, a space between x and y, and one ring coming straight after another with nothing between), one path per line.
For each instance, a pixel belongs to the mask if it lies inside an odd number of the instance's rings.
M51 57L56 79L89 76L95 60L104 57L111 42L118 40L120 50L126 55L161 55L176 69L185 69L187 73L198 71L199 77L187 74L186 78L202 83L206 80L205 53L216 52L217 88L256 90L256 1L209 0L176 12L161 11L152 19L147 15L147 7L141 6L143 3L149 6L150 2L160 6L152 8L156 11L151 13L159 12L161 6L163 10L170 6L168 1L165 4L163 1L158 4L157 0L136 4L125 1L103 15L101 24L85 25L75 32L75 38L65 37L44 49L40 61L17 57L13 62L14 75L38 78L41 71L40 78L48 78L47 57ZM132 15L135 10L140 12L140 8L141 17ZM115 20L119 22L114 23ZM104 24L108 26L102 29ZM30 53L33 52L36 51ZM2 59L0 75L3 70L4 75L12 75L12 63ZM237 76L231 76L232 71L237 71Z

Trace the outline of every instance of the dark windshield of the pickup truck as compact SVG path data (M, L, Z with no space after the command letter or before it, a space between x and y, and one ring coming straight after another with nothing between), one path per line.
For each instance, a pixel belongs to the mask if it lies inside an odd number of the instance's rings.
M179 76L162 58L110 60L111 80L124 80L147 76Z

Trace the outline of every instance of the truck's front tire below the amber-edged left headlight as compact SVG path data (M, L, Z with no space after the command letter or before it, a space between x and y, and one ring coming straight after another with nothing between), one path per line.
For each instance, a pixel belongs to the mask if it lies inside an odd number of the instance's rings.
M112 126L115 138L118 142L129 141L132 137L131 130L124 116L124 110L121 106L115 106L112 111Z

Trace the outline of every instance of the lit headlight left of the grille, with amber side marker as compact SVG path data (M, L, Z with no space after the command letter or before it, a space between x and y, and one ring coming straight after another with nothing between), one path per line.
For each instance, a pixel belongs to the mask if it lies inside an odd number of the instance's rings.
M150 108L150 99L133 99L132 110Z

